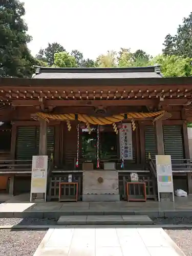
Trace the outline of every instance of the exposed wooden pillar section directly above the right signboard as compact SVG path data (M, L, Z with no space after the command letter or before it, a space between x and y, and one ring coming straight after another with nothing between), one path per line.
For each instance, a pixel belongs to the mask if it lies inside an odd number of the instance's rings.
M164 155L163 123L162 119L155 121L157 154Z

